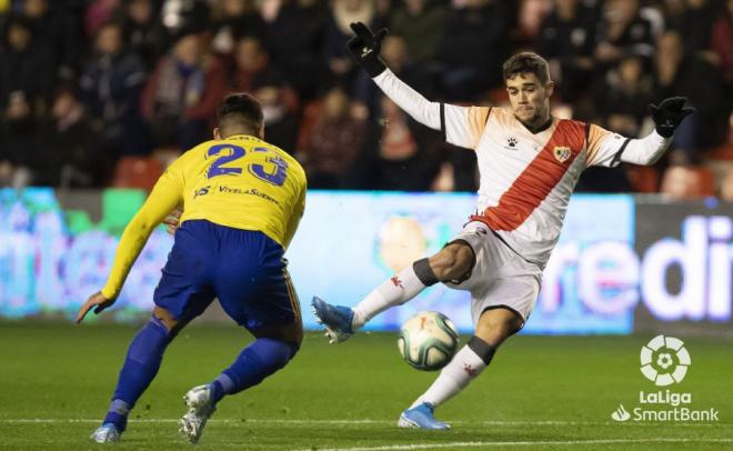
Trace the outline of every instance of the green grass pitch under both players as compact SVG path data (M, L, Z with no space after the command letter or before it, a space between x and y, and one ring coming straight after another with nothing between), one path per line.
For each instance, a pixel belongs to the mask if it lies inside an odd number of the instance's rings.
M135 330L0 323L0 449L99 449L89 434ZM692 365L672 390L691 392L693 409L717 409L719 422L611 419L619 403L629 411L637 407L640 390L656 391L639 371L639 350L651 335L520 335L438 411L452 430L401 430L399 413L435 373L403 363L394 334L361 333L332 345L309 333L284 370L220 403L195 449L733 449L733 340L680 338ZM181 332L119 448L190 448L177 433L183 393L213 379L249 340L234 325L193 324Z

